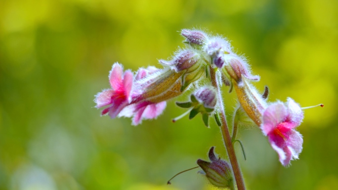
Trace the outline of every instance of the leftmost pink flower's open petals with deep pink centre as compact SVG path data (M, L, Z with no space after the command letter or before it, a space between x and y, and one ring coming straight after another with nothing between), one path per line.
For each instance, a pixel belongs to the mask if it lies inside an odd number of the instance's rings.
M128 70L123 74L123 66L115 63L109 74L109 82L112 89L96 94L94 101L96 108L110 105L101 114L109 113L110 117L115 118L131 101L133 75Z

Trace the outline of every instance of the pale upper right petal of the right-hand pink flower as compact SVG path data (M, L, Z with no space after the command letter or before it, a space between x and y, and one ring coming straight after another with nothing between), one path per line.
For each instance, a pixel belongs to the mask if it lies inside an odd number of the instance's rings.
M298 126L304 118L303 111L301 110L299 104L297 104L293 99L287 99L288 107L288 118L287 120L294 122Z

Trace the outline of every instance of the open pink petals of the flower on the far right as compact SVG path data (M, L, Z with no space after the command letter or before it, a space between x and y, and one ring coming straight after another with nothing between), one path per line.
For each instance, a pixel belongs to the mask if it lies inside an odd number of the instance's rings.
M291 98L287 103L274 103L266 108L260 126L269 139L272 148L278 153L279 161L287 166L291 160L298 159L303 139L296 128L304 115L299 105Z

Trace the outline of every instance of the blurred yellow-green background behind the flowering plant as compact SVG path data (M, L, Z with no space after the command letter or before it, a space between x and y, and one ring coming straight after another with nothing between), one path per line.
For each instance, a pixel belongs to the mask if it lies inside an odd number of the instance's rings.
M0 0L0 190L211 190L197 169L166 185L211 146L227 157L214 121L170 122L186 97L137 127L93 108L114 62L161 67L183 46L177 31L194 27L245 53L270 101L325 104L305 111L288 168L257 127L241 129L248 189L338 189L337 10L337 0Z

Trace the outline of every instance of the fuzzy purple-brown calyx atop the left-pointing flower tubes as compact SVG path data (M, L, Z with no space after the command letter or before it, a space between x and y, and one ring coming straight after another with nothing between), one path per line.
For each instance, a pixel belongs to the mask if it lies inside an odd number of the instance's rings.
M160 60L160 63L169 65L176 72L180 72L194 66L201 56L199 53L190 49L179 52L171 61Z

